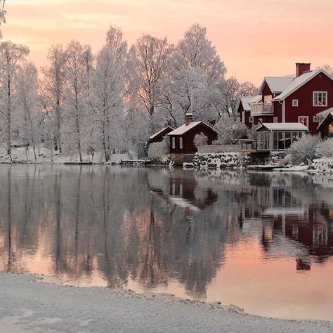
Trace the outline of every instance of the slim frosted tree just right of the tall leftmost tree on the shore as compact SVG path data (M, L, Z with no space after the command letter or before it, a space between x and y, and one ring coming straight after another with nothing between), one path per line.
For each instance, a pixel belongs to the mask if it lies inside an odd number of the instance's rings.
M34 161L37 162L36 142L39 112L38 72L32 63L18 68L18 115L20 117L20 138L25 145L25 157L28 161L28 148L34 152Z

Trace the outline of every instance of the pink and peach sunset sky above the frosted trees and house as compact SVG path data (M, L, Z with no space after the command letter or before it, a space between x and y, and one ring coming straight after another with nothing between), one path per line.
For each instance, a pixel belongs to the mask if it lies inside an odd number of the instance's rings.
M143 33L176 43L199 22L231 75L260 84L294 63L333 65L332 0L7 0L4 39L30 46L37 66L49 46L78 39L94 51L108 25L133 43Z

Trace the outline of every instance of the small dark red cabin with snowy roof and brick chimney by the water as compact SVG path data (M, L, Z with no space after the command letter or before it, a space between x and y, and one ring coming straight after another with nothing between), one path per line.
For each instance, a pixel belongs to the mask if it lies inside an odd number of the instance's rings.
M197 134L203 133L208 138L208 145L211 145L217 138L217 133L213 127L204 122L193 122L192 113L185 115L185 124L171 131L170 138L171 154L195 154L197 147L194 144L194 138Z

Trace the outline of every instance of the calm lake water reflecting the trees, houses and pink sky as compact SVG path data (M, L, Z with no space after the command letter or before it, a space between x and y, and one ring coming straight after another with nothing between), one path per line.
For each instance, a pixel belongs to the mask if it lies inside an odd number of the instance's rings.
M0 165L0 270L333 320L333 180Z

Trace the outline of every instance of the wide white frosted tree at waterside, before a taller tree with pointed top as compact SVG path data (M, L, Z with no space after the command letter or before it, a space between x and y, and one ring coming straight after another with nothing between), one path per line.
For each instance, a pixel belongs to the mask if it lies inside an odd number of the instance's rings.
M90 104L96 119L94 133L101 143L105 162L110 160L111 150L118 148L117 138L122 136L122 79L117 53L104 46L97 56Z

